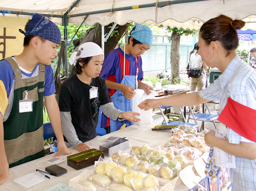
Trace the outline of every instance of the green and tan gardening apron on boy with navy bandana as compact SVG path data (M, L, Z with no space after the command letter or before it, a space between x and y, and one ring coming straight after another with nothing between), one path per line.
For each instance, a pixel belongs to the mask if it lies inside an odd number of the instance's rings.
M9 117L3 122L4 147L9 167L44 156L43 143L43 92L45 65L39 65L39 75L22 79L22 73L12 58L5 58L15 75L13 105ZM33 111L19 113L19 100L33 100Z

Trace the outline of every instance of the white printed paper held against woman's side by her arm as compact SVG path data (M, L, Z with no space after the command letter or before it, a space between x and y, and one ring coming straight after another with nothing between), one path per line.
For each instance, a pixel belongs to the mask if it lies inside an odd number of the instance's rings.
M215 131L215 137L227 139L227 127L223 123L219 123ZM215 163L218 167L236 168L236 157L230 155L223 150L213 147Z

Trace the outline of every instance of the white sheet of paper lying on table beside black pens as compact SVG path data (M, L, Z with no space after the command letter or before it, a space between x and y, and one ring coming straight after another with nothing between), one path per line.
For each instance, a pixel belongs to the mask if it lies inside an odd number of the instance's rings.
M54 177L49 174L45 174L45 175L49 176L50 178ZM48 180L48 179L49 178L45 177L43 174L35 171L35 172L31 172L29 174L26 174L22 177L19 177L13 181L25 188L29 188L37 183L40 183L40 182L42 182L44 180Z

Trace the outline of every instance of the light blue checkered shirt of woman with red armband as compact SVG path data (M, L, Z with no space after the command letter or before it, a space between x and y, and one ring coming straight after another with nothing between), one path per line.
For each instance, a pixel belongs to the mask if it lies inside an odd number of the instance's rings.
M256 71L237 55L229 63L223 74L213 84L199 92L199 95L204 99L219 102L221 109L218 114L225 107L228 97L256 110ZM239 111L237 112L239 113ZM240 114L241 118L243 115L246 114ZM256 126L252 128L256 128ZM229 127L227 127L227 137L228 142L233 144L239 144L241 141L254 143ZM230 170L232 191L255 191L256 159L236 157L236 167L236 169Z

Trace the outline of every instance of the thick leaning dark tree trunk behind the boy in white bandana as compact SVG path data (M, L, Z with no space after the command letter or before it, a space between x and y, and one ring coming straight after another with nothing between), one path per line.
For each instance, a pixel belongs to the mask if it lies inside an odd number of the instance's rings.
M118 30L119 35L112 36L109 38L104 45L104 54L108 54L112 49L114 49L120 40L120 38L123 36L125 30L127 29L128 25L130 23L126 23L125 25L116 25L118 27L116 30ZM109 33L111 30L112 23L104 27L104 34ZM86 31L85 35L81 39L76 39L73 41L74 44L74 51L78 49L78 47L85 43L85 42L95 42L97 45L101 47L101 25L99 23L95 23L92 28ZM75 68L73 65L69 67L69 76L73 75L75 73Z

